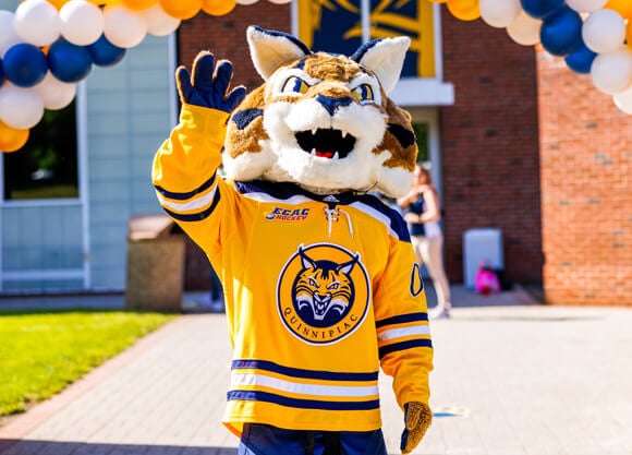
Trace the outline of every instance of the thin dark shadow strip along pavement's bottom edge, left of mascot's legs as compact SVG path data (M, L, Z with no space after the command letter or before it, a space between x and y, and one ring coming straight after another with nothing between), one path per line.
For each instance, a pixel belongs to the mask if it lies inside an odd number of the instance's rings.
M0 440L1 455L235 455L234 447Z

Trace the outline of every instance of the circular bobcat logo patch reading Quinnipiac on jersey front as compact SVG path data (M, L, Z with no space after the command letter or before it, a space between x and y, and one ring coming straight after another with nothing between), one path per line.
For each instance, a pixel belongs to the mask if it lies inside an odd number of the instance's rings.
M315 345L353 333L366 316L369 295L360 254L329 243L299 247L277 284L277 306L285 327Z

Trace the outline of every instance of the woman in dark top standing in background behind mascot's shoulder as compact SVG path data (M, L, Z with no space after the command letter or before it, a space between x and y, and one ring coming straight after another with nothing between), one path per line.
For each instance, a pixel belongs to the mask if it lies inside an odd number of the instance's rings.
M429 311L430 319L450 318L450 284L443 270L443 234L439 220L439 196L433 185L429 170L417 164L413 188L398 199L409 224L411 240L420 266L426 264L437 294L437 307Z

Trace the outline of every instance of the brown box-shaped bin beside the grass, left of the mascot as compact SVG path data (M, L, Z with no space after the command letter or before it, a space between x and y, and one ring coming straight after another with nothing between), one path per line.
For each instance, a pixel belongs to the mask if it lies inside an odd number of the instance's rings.
M125 308L181 311L184 292L184 236L167 215L130 218Z

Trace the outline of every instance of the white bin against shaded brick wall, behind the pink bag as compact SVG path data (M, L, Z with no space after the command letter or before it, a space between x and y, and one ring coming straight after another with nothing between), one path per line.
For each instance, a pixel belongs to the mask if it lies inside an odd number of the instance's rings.
M482 263L495 271L505 268L500 229L469 229L463 235L463 276L467 289L474 289L476 272Z

